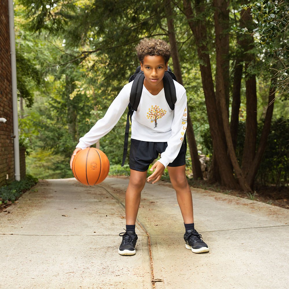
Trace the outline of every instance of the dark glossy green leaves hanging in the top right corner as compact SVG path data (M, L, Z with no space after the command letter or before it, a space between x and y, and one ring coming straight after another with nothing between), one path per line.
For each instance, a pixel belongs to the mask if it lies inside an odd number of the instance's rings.
M289 22L288 1L253 1L241 5L242 9L250 9L254 27L240 28L236 24L232 31L254 37L255 48L249 53L257 55L257 63L250 70L255 74L266 75L274 79L278 94L283 100L289 97Z

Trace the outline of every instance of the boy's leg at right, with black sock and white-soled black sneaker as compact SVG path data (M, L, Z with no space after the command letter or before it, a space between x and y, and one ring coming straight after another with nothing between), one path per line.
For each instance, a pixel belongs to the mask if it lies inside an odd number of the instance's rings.
M186 228L184 235L186 248L191 249L194 253L208 252L208 245L203 242L201 235L194 229L192 192L186 177L186 165L168 166L168 174L177 193L177 201Z

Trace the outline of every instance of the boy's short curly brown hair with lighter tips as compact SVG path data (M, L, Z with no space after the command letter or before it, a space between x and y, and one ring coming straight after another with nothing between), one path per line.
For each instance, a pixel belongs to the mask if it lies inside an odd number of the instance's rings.
M136 46L136 52L141 63L144 62L144 57L146 55L161 55L164 58L165 63L167 63L171 56L171 47L164 40L144 38L140 40Z

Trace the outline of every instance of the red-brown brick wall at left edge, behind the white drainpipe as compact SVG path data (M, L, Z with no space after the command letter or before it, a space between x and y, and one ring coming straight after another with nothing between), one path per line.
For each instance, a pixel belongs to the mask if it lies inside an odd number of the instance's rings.
M0 186L14 180L14 146L8 0L0 1Z

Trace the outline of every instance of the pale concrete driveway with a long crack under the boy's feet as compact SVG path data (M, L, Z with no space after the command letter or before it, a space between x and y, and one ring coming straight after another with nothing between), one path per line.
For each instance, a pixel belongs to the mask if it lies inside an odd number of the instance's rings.
M137 253L121 256L127 184L43 180L0 213L0 288L289 287L289 210L192 188L195 228L210 247L194 254L171 184L146 184Z

